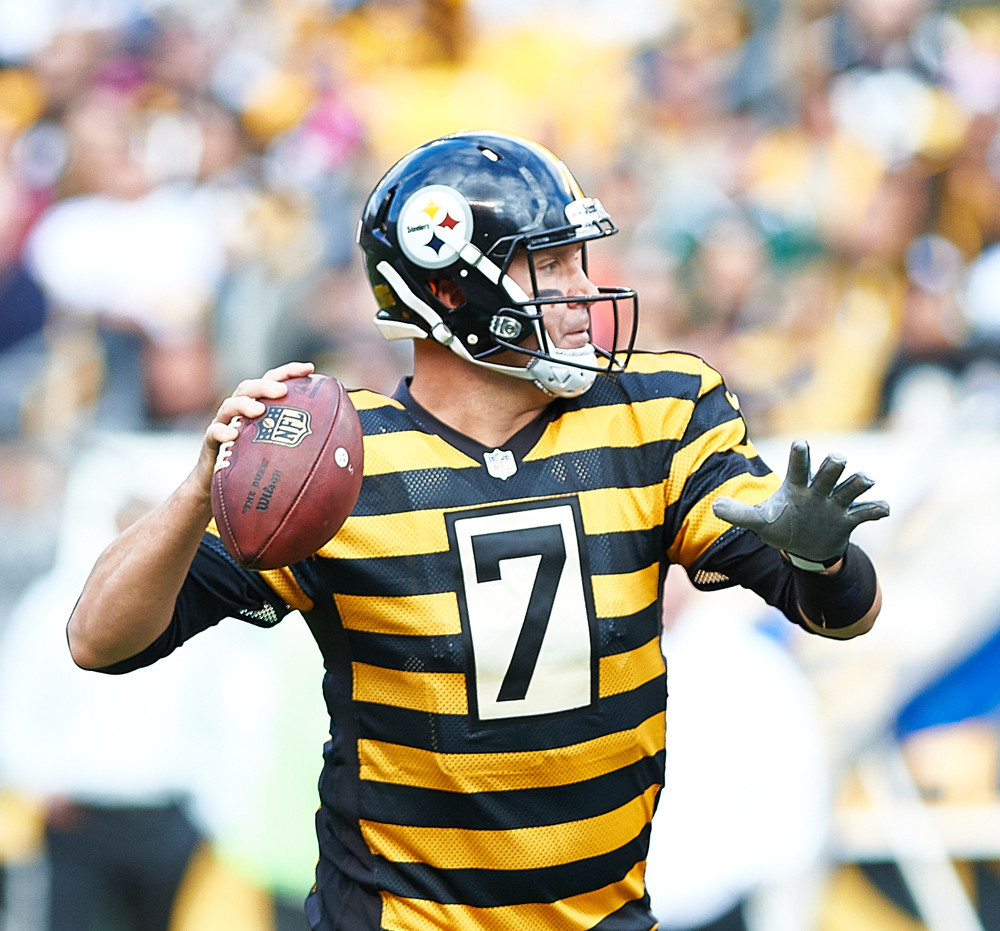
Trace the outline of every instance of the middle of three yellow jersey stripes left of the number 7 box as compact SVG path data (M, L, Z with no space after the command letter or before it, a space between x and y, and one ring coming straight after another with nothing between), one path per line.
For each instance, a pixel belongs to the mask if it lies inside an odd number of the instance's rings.
M454 592L431 595L335 595L341 621L348 630L390 636L446 637L462 632Z

